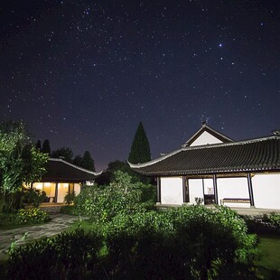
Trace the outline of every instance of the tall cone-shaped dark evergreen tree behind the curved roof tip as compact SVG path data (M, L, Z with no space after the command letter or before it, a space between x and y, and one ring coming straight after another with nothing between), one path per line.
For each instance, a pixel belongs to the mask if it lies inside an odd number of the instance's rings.
M151 160L151 151L145 129L140 122L133 143L131 145L130 154L128 156L129 163L145 163Z

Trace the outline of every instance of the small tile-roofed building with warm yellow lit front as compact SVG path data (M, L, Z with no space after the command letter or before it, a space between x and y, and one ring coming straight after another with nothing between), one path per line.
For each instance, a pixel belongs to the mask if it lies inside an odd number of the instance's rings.
M45 191L46 202L63 202L67 192L78 195L82 184L93 183L100 174L57 158L48 160L46 170L41 182L33 182L33 188Z

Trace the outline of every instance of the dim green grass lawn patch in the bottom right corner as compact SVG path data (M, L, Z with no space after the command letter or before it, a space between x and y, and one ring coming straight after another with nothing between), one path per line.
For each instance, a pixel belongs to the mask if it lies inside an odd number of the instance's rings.
M261 251L260 271L266 279L280 279L280 236L259 235L257 248Z

